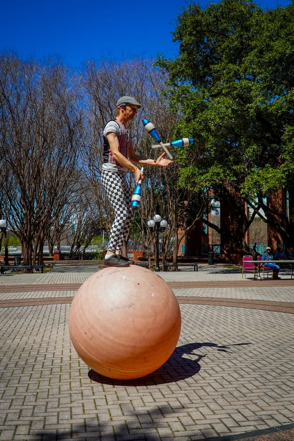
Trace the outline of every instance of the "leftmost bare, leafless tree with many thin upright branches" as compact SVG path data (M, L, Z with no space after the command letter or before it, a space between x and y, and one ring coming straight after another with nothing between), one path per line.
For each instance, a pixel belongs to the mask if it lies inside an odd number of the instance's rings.
M4 191L10 227L24 263L43 260L51 225L80 175L82 111L66 69L14 55L0 58L0 151L9 175Z

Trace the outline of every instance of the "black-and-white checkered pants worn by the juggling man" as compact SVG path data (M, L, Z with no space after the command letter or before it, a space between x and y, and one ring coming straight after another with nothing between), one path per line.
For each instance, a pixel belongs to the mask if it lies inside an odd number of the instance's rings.
M124 173L102 170L101 182L115 213L108 249L120 252L133 220L132 195Z

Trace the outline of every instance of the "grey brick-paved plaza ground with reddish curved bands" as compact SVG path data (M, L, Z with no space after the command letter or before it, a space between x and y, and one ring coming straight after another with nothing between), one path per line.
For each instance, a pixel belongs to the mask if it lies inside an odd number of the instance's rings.
M156 372L115 381L89 371L68 332L71 297L96 270L0 276L0 440L294 440L289 274L279 285L217 266L161 272L180 302L178 345Z

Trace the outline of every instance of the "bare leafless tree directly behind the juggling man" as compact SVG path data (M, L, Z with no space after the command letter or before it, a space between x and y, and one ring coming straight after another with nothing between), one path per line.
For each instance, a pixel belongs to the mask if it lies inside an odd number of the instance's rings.
M158 156L159 152L152 150L151 139L147 141L144 133L144 127L141 122L145 116L152 120L155 124L160 124L165 128L162 135L169 138L172 134L172 128L175 118L167 112L166 101L161 98L160 92L164 87L164 77L152 66L152 61L144 59L134 59L132 61L123 62L117 65L113 61L101 62L96 65L94 62L88 64L85 77L85 89L89 96L88 101L88 148L85 150L85 162L87 170L96 189L96 200L100 210L100 218L105 222L105 229L110 230L113 213L107 199L105 198L103 189L100 184L101 167L102 167L102 128L110 119L115 118L114 109L116 100L123 95L135 96L142 102L142 108L138 112L138 116L128 125L131 131L133 146L138 154L150 157ZM165 125L163 124L165 121ZM155 168L146 170L146 182L152 184L164 179L162 171ZM159 174L158 174L159 173ZM158 178L158 176L161 176ZM135 187L134 178L129 176L130 186ZM152 181L152 182L151 182ZM147 185L145 184L147 189ZM154 194L152 193L154 196ZM147 198L145 199L147 202ZM154 211L154 197L148 198L145 204L147 211ZM163 211L163 210L162 210ZM141 212L144 215L144 212ZM147 215L147 214L146 214ZM147 221L147 219L145 218ZM149 239L145 239L146 232L145 220L139 219L141 243L149 248ZM137 222L137 225L138 225ZM135 224L134 224L135 225Z

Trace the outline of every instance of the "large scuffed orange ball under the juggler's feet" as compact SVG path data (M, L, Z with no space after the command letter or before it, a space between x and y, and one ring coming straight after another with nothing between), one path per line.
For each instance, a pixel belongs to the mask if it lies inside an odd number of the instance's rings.
M101 375L139 378L160 368L180 335L181 314L168 284L130 265L93 274L75 294L69 330L80 358Z

